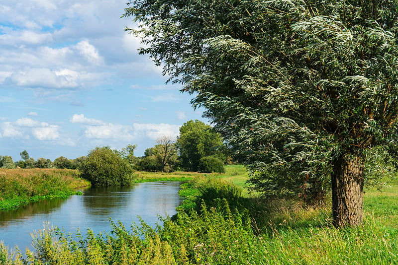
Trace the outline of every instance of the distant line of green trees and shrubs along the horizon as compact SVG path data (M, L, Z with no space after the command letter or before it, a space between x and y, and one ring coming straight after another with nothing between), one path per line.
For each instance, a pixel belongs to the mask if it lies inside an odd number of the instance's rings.
M141 157L134 156L136 144L128 144L117 150L109 146L97 147L89 151L88 156L68 159L60 156L54 161L46 158L35 160L26 150L20 153L21 159L13 161L11 156L0 156L0 168L60 168L80 169L88 157L115 156L113 162L127 163L132 170L171 172L176 170L223 172L224 164L233 161L228 148L219 133L199 120L191 120L180 128L177 137L163 135L156 140L155 146L145 150ZM109 158L110 159L110 158ZM112 160L111 159L111 160ZM120 160L120 161L121 161ZM210 166L211 165L211 166Z

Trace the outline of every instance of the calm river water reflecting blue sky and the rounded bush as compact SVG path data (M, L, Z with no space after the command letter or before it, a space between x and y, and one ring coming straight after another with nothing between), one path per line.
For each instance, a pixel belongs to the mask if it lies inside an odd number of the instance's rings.
M0 241L10 248L17 245L22 253L26 247L33 250L30 233L42 229L44 222L63 227L66 232L75 233L80 228L85 233L90 228L98 234L110 230L109 217L129 228L132 221L139 223L139 215L153 226L159 221L157 214L176 213L183 200L178 196L180 185L180 182L147 182L125 188L89 188L83 190L83 195L68 199L43 200L0 211Z

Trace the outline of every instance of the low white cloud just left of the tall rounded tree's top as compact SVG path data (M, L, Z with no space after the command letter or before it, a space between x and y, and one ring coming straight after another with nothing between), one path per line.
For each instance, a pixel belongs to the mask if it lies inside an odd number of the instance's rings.
M134 134L137 136L147 136L156 140L163 135L177 136L180 133L179 125L172 124L133 124Z

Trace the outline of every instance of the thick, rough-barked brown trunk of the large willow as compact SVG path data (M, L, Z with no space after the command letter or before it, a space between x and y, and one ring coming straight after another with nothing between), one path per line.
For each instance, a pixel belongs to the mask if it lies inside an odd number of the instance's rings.
M360 156L341 156L333 163L333 225L361 225L363 221L364 161Z

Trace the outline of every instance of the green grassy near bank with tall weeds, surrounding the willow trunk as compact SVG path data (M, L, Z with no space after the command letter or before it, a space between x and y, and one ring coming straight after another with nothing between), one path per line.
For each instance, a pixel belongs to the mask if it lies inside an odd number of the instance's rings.
M196 194L173 221L155 228L112 223L110 233L80 240L46 226L34 233L36 251L25 258L0 245L0 264L398 264L397 179L365 190L363 226L337 229L330 202L309 207L245 193L242 166L189 176L182 191Z

